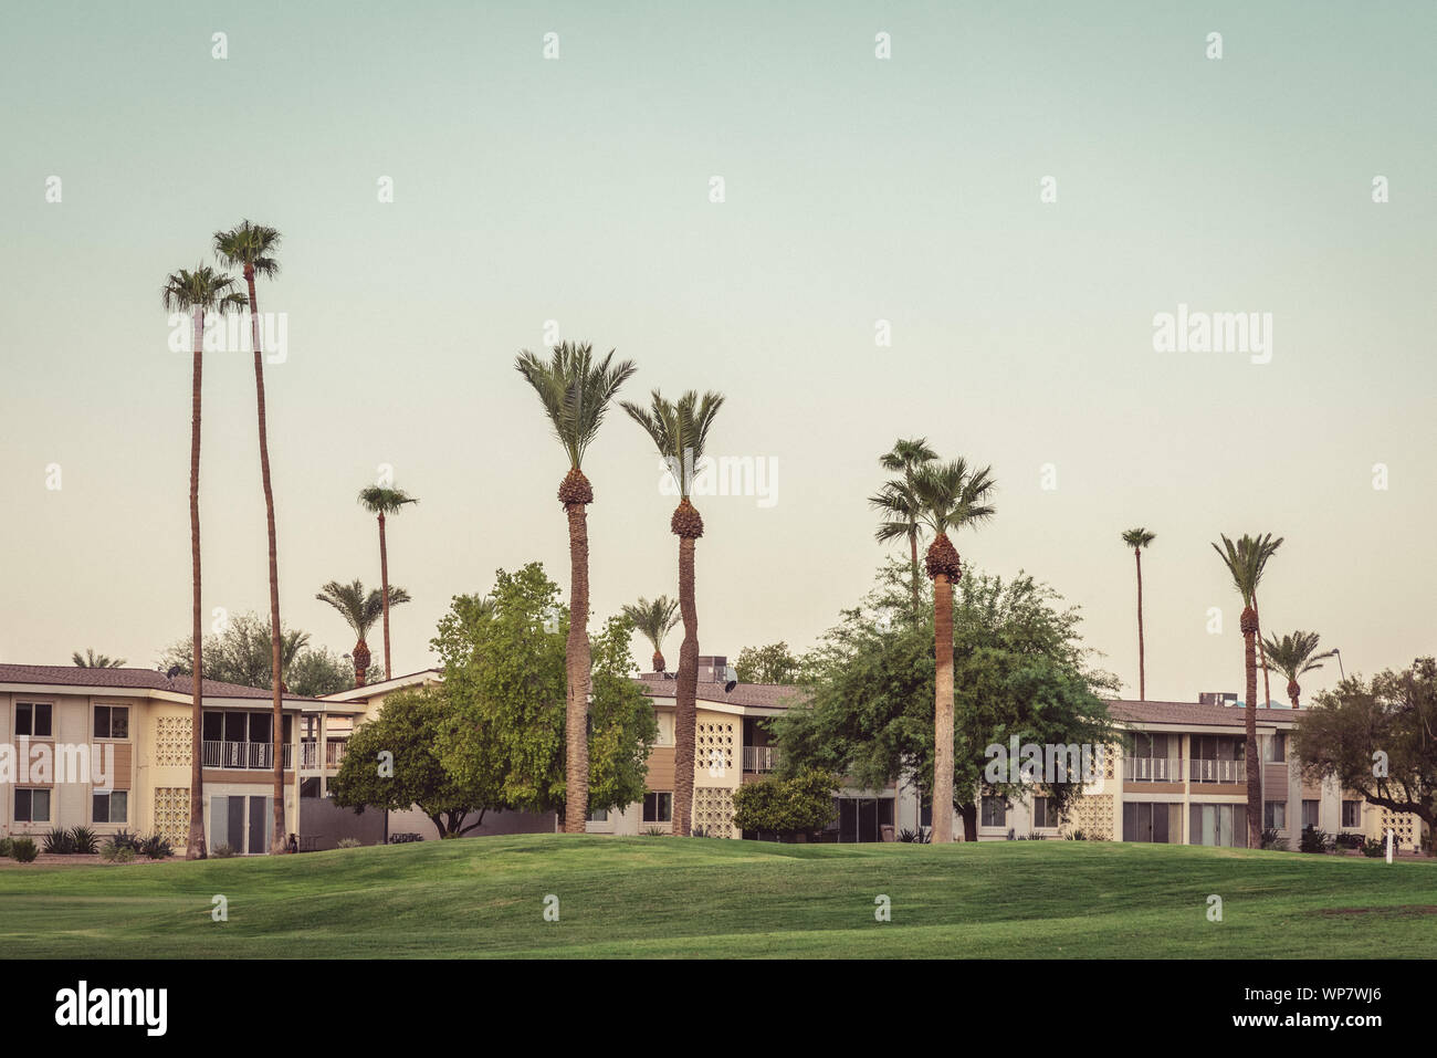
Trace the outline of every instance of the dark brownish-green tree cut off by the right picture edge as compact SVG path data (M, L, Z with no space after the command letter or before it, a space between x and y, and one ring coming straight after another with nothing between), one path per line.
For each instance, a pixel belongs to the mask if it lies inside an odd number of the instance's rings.
M1437 660L1420 657L1371 683L1354 676L1298 716L1293 749L1309 781L1342 789L1428 827L1437 854Z

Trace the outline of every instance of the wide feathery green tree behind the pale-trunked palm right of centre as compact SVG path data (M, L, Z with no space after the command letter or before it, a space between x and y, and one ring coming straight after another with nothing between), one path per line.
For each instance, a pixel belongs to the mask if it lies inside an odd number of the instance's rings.
M812 766L869 789L915 782L920 796L933 799L933 614L912 608L907 572L885 566L864 602L845 610L805 656L806 702L770 723L780 776ZM1117 677L1089 667L1079 612L1061 604L1025 574L1004 581L967 571L958 581L950 782L969 841L984 792L1036 791L1059 809L1081 792L1078 782L989 782L989 746L1006 749L1013 736L1040 746L1106 746L1118 737L1099 697L1117 689Z

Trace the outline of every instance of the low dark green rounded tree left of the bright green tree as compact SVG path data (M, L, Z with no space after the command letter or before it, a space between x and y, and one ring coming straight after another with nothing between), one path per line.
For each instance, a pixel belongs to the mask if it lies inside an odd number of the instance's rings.
M399 690L384 699L379 716L355 730L329 792L341 808L418 806L441 838L456 838L484 822L499 805L491 775L447 770L435 746L461 723L444 687ZM479 818L464 825L466 816Z

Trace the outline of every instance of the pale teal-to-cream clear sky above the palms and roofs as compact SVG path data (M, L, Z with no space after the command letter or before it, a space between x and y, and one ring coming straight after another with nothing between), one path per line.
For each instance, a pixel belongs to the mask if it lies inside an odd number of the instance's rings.
M355 496L384 467L421 500L389 522L397 671L499 568L568 591L566 461L513 369L558 334L634 359L625 398L724 392L711 454L769 469L767 497L698 497L703 653L803 650L855 605L900 553L878 456L923 436L999 482L964 562L1079 605L1127 697L1138 525L1150 699L1242 691L1219 533L1285 538L1265 631L1405 666L1437 650L1434 36L1428 3L16 9L0 660L148 667L187 635L191 358L160 289L250 217L283 233L280 611L336 653L315 592L378 584ZM1270 345L1155 348L1180 305ZM205 614L267 608L247 349L205 356ZM585 460L596 622L675 594L655 460L621 413Z

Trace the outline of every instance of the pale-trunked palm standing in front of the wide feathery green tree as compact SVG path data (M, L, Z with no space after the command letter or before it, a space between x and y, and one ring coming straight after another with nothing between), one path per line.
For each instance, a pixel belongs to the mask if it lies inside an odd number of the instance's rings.
M963 574L948 530L977 526L993 518L989 500L997 487L993 469L971 469L963 459L923 467L914 476L920 518L933 532L924 558L933 581L933 840L953 841L953 585ZM976 831L964 828L974 841Z

